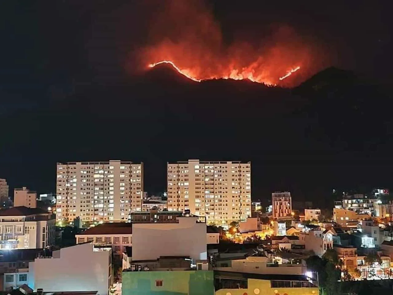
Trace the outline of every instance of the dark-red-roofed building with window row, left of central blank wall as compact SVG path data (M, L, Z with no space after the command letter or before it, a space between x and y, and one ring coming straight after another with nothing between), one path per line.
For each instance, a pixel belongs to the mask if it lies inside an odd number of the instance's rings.
M112 247L114 258L120 260L126 247L132 245L131 223L103 223L75 235L76 243L91 242L94 245Z

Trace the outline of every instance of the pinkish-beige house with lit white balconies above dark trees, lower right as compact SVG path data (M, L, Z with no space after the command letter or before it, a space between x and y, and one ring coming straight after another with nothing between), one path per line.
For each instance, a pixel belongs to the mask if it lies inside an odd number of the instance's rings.
M315 255L322 256L327 249L333 249L333 234L330 230L320 228L301 232L300 240L304 242L306 251L314 251Z

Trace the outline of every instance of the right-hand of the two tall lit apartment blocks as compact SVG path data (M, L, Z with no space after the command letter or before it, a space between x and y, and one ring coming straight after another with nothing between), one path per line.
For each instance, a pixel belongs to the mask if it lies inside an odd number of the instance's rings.
M168 210L190 210L222 224L251 216L251 162L167 164Z

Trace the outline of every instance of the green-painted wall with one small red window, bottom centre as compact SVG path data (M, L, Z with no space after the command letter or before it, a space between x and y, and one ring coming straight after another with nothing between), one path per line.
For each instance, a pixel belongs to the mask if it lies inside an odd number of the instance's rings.
M121 282L122 295L214 295L213 271L125 271Z

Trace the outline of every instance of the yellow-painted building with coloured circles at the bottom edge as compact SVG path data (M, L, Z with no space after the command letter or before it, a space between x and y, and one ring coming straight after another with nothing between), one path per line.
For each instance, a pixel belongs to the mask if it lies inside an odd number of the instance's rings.
M215 295L319 295L303 275L261 275L215 271Z

